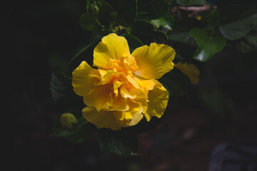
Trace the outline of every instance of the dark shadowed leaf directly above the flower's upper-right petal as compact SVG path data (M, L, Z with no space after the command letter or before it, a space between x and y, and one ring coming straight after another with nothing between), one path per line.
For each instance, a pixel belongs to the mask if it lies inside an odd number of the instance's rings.
M136 20L131 27L131 34L144 41L143 43L163 43L168 40L166 33L158 31L151 22L146 20Z

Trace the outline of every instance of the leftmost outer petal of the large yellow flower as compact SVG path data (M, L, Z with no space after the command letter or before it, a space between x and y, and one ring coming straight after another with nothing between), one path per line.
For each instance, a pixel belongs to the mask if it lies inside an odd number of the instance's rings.
M100 73L98 70L91 68L86 61L72 72L72 86L77 95L88 95L91 89L95 88L100 82Z

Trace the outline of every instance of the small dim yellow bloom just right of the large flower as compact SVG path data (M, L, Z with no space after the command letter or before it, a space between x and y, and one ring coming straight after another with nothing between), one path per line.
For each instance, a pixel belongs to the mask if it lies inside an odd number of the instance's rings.
M199 82L200 71L195 65L178 62L175 64L175 67L178 68L182 73L186 74L191 83L197 84Z

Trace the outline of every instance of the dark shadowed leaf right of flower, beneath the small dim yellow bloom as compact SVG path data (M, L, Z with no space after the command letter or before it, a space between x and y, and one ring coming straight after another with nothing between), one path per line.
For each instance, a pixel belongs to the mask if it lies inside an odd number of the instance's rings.
M158 81L163 84L171 96L182 96L186 94L188 85L186 75L181 73L177 68L173 68L173 70L164 74Z

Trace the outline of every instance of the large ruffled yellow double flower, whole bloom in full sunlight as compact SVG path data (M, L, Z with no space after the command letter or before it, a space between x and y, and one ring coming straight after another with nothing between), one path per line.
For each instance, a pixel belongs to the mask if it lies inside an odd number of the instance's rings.
M84 118L97 128L119 130L161 118L168 92L156 79L173 69L175 51L151 43L129 51L126 38L110 33L94 49L94 66L83 61L72 73L76 94L87 105Z

